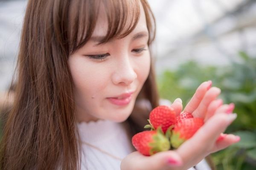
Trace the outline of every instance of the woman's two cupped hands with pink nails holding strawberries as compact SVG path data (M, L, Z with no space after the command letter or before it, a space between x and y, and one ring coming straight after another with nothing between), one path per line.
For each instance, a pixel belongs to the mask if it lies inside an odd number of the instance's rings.
M122 160L121 170L187 170L210 153L238 142L239 136L223 135L227 126L236 119L236 114L231 113L234 105L222 105L222 100L216 99L220 89L211 88L211 84L211 81L203 82L183 111L205 119L205 124L192 138L181 144L177 150L168 150L153 156L133 152ZM181 100L176 99L172 107L179 114L182 110ZM222 138L218 139L220 134Z

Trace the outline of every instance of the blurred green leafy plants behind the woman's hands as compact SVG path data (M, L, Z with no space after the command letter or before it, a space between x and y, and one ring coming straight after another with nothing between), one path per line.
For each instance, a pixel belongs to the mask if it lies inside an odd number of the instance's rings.
M241 62L229 66L201 66L194 61L180 65L175 71L165 71L158 76L160 97L174 101L189 101L202 82L212 80L221 88L224 103L233 102L237 119L225 133L241 136L241 141L212 154L217 170L256 169L256 57L240 51Z

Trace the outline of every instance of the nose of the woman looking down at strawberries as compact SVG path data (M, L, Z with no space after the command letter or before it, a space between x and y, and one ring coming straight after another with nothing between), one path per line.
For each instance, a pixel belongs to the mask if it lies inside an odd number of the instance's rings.
M128 57L119 59L116 62L116 69L112 75L112 81L115 85L125 84L129 85L137 78L137 74L134 71L132 62Z

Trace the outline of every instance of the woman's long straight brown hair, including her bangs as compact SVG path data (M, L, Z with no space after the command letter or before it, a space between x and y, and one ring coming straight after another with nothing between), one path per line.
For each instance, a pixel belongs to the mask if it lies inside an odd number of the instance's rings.
M131 33L142 3L150 38L154 16L146 0L29 0L17 59L15 101L7 115L0 150L1 170L75 170L77 142L73 81L67 60L90 39L99 4L107 9L108 34L102 43ZM124 28L128 14L131 23ZM124 30L125 29L125 30ZM153 64L138 99L158 105ZM141 111L141 112L138 112ZM135 105L127 120L133 133L142 130L148 111Z

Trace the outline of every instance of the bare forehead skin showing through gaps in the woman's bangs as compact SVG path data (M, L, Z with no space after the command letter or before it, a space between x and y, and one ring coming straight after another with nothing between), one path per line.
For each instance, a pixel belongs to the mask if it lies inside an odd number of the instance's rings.
M148 32L145 12L144 12L142 4L139 3L139 5L140 5L139 20L137 22L136 27L131 32L131 34L139 32L139 31L147 31ZM107 12L106 10L108 10L108 9L104 8L103 5L101 4L100 8L99 8L99 16L96 21L96 27L93 31L92 36L105 36L108 33L109 23L108 23L108 17L106 15L106 12ZM127 30L131 26L131 22L132 22L131 20L132 20L132 14L128 13L127 19L125 21L125 25L122 28L121 34L123 34L125 32L125 30Z

